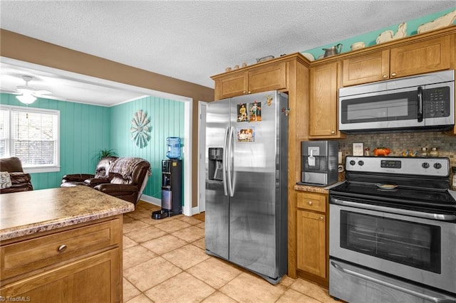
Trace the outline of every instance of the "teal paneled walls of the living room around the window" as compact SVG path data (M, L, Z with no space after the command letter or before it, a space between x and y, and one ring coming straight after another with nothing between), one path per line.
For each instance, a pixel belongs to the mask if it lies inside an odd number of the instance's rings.
M16 95L0 94L2 105L25 107ZM161 161L167 159L166 138L184 136L184 103L159 97L143 97L114 107L86 105L38 98L29 107L59 110L61 117L61 170L31 174L33 188L56 188L65 174L95 171L95 155L100 149L114 149L119 156L138 156L152 166L145 195L161 198ZM133 115L138 110L150 119L150 141L137 147L130 136Z

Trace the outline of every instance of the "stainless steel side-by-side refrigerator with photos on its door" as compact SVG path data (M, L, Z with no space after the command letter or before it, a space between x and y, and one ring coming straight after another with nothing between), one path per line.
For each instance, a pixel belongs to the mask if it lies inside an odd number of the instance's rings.
M206 252L276 284L287 270L288 96L218 100L206 117Z

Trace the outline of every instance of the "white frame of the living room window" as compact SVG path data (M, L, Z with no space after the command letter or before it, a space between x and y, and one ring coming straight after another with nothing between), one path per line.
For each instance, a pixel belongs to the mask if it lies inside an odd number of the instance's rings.
M49 173L60 171L60 110L46 110L42 108L36 107L22 107L22 106L14 106L14 105L0 105L0 110L7 110L9 112L8 117L8 140L6 142L6 148L8 149L9 156L14 156L11 154L11 146L12 146L12 136L11 136L11 123L13 123L12 112L33 112L35 114L46 114L46 115L56 115L57 116L57 129L56 129L56 138L57 138L57 146L56 146L56 164L53 165L35 165L35 166L28 166L26 164L22 164L23 169L26 173L34 174L34 173Z

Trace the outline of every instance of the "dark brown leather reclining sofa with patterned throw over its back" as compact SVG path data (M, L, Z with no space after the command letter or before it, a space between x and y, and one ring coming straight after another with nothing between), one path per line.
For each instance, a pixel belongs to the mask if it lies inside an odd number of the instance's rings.
M150 163L145 159L112 156L98 162L95 174L63 176L61 187L90 186L97 191L136 205L149 176Z

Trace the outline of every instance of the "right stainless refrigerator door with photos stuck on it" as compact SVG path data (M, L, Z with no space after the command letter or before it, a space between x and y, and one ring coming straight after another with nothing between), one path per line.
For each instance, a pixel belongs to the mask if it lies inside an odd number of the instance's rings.
M230 159L229 260L266 277L279 276L278 166L280 153L287 154L287 142L279 137L279 116L284 114L278 95L261 92L232 98L231 104L234 153ZM239 119L242 105L247 107L248 121Z

